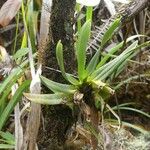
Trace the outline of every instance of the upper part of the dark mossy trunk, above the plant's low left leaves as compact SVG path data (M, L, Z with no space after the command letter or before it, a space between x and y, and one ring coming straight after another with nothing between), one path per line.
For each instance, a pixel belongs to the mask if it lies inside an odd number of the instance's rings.
M64 47L64 60L66 71L74 71L74 40L73 40L73 20L74 20L75 0L53 0L49 42L47 49L42 52L41 61L43 63L43 71L47 77L55 79L56 74L50 73L45 66L58 69L55 49L59 40L62 41Z

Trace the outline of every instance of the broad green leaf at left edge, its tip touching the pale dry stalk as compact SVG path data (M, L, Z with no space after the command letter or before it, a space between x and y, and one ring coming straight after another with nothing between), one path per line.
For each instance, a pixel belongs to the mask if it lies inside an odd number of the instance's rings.
M3 113L0 115L0 130L3 128L5 122L7 121L11 112L13 111L15 105L21 99L23 91L25 91L29 87L29 85L30 85L30 81L27 80L23 82L23 84L17 89L17 91L15 92L11 100L9 101Z

